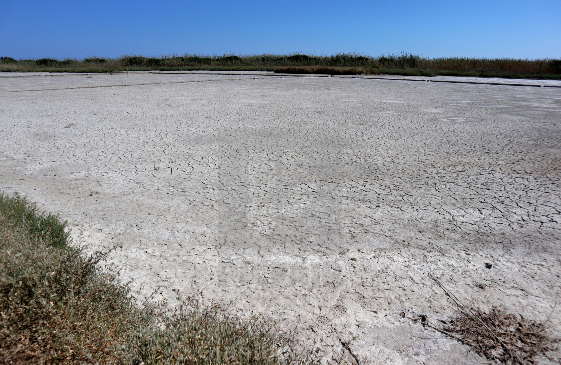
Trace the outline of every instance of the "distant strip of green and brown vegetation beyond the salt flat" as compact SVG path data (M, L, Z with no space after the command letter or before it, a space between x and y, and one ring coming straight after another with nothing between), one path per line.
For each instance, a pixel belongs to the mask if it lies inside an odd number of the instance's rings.
M116 59L89 57L84 60L0 58L0 71L9 72L115 72L115 71L274 71L276 69L318 74L397 74L401 76L472 76L500 78L561 79L561 60L424 58L402 53L380 57L360 54L316 56L290 55L222 55L185 54L146 58L132 55ZM334 71L333 69L337 69ZM347 69L343 71L343 69ZM364 70L356 71L357 69ZM89 71L84 71L89 70ZM97 71L95 71L97 70ZM280 71L279 71L280 72ZM333 73L335 72L335 73Z

